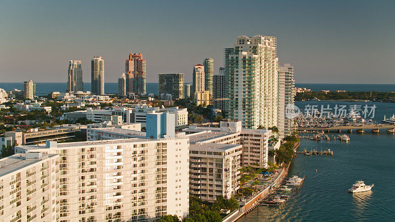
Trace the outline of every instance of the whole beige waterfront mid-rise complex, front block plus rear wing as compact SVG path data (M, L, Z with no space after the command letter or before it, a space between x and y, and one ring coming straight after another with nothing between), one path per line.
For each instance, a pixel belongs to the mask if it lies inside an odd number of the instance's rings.
M203 200L230 198L238 189L241 166L268 167L271 130L244 129L241 122L220 127L190 126L190 193Z

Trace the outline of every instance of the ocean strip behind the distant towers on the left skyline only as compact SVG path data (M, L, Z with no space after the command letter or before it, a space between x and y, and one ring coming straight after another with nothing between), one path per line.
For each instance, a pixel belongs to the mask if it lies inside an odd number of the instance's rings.
M23 89L22 82L0 82L0 88L6 91L11 89ZM90 91L90 82L83 83L83 91ZM46 95L50 92L65 92L67 90L67 82L36 82L36 94ZM147 82L146 84L147 93L158 94L158 83L157 82ZM117 82L105 82L104 92L106 94L118 93L118 83Z

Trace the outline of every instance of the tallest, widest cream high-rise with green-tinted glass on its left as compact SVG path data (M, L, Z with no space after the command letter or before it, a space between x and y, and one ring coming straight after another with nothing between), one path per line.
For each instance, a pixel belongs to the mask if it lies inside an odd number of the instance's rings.
M226 118L245 128L277 125L276 37L240 36L225 48Z

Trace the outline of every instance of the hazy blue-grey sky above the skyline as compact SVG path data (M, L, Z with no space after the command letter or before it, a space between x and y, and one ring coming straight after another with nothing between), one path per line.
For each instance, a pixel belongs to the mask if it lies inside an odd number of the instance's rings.
M67 82L93 56L117 82L129 53L143 53L147 82L184 73L204 58L223 66L241 35L276 36L296 83L394 83L394 0L2 0L0 81Z

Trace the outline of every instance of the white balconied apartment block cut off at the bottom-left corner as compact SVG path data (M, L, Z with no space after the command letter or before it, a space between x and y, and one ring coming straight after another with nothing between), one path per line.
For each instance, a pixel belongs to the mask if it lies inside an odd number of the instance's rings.
M59 221L59 155L0 159L0 221Z

